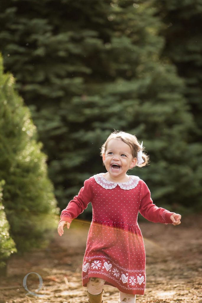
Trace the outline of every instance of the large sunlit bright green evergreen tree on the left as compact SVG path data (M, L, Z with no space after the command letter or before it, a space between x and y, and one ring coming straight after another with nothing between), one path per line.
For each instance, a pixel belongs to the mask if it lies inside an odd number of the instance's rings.
M22 253L49 238L46 233L54 228L58 210L47 178L46 155L36 142L36 127L14 82L11 74L3 74L0 57L0 179L5 180L3 204L10 234Z

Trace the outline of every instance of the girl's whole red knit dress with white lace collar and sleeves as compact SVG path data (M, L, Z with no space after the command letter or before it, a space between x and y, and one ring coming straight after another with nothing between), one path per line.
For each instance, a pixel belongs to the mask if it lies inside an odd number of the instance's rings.
M153 204L147 185L139 177L115 183L101 173L84 182L79 194L62 211L60 221L71 223L89 202L93 219L83 258L83 286L90 277L97 277L124 293L144 295L146 259L138 211L147 220L164 224L172 223L173 213Z

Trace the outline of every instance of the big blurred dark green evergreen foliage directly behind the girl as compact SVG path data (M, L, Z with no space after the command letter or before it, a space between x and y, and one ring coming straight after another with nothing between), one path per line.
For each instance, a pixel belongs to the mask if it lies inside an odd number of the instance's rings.
M143 140L151 163L130 173L144 179L156 205L199 210L199 124L188 82L163 53L163 4L3 0L0 6L5 68L31 109L60 208L104 170L99 148L119 129Z

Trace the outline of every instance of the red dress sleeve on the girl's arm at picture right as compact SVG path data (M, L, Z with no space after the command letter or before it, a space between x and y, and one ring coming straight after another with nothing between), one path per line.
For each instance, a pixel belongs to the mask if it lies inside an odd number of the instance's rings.
M155 223L173 223L170 216L174 214L165 208L157 207L152 199L151 193L144 181L142 181L142 199L139 208L141 215L148 221Z

